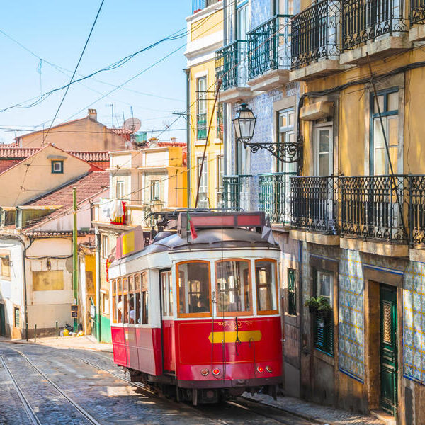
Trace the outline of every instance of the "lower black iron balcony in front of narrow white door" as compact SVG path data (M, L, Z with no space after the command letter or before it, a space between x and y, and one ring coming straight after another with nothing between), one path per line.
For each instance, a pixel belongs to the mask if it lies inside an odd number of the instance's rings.
M338 178L296 176L290 181L291 227L337 234Z

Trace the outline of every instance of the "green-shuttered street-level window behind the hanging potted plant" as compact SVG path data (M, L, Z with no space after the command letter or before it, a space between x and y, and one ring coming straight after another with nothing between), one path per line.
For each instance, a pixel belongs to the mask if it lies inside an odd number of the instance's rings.
M329 304L333 303L333 274L325 271L314 270L314 294L317 298L325 297ZM334 319L331 313L314 314L314 348L329 356L334 355Z

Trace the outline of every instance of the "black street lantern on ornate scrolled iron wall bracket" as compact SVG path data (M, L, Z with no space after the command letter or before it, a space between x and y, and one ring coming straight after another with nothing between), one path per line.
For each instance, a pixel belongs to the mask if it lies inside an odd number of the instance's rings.
M273 157L282 162L299 162L302 156L301 143L288 142L251 142L254 137L256 116L248 108L246 103L242 103L239 111L232 120L234 132L238 142L244 144L244 148L249 147L251 152L258 152L259 149L266 149Z

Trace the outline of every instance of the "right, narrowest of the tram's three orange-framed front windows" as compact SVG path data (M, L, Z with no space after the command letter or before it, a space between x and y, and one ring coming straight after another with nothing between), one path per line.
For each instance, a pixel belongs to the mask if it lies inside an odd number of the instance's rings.
M278 312L276 261L257 260L255 280L258 314L276 314Z

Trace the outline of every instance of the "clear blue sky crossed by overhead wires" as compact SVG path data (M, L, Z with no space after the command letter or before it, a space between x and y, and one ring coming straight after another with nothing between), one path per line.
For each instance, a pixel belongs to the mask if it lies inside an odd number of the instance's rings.
M44 60L74 70L100 3L100 0L9 1L2 5L0 30ZM186 29L185 18L191 13L191 3L191 0L106 0L77 72L89 74L166 35ZM137 55L123 67L97 74L94 79L118 86L185 44L186 37L164 42ZM111 106L106 105L113 103L119 126L123 123L123 111L125 118L129 118L132 106L134 115L142 120L141 130L163 129L177 118L172 115L173 111L184 111L186 108L186 81L182 71L186 66L184 50L185 47L100 101L96 100L111 91L113 86L94 79L86 79L82 83L84 86L73 84L55 124L82 118L86 116L86 108L90 107L97 109L99 121L110 126ZM39 60L2 33L0 52L0 109L39 96ZM62 74L42 62L42 92L67 84L70 75ZM146 96L125 89L176 100ZM48 127L63 93L57 92L33 108L13 108L0 113L0 127L29 131L42 129L42 123ZM89 106L91 103L93 105ZM81 109L84 111L79 112ZM114 124L117 126L116 119ZM185 127L184 118L173 126L174 129ZM0 142L13 142L16 135L23 133L0 129ZM184 131L165 132L160 138L169 140L173 135L181 141L186 140Z

